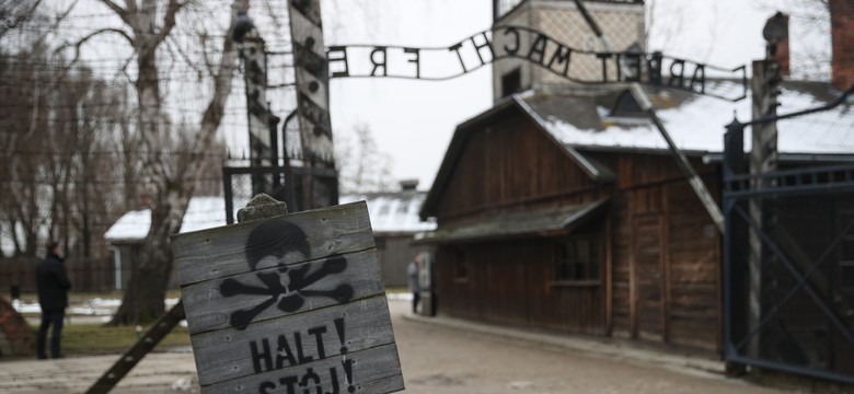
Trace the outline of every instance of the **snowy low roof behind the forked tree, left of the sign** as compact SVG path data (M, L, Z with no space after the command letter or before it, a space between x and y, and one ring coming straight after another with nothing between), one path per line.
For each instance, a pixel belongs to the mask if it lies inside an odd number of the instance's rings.
M235 206L241 206L235 204ZM181 232L191 232L226 225L226 199L223 197L193 197L184 215ZM140 209L123 215L104 239L109 242L142 241L151 227L151 210Z

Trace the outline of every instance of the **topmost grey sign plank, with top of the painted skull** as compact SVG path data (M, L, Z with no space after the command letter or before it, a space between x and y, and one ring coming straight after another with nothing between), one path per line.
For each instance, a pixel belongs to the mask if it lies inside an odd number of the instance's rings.
M256 229L272 236L252 236ZM365 201L184 233L172 244L182 286L374 246ZM272 254L258 256L262 250Z

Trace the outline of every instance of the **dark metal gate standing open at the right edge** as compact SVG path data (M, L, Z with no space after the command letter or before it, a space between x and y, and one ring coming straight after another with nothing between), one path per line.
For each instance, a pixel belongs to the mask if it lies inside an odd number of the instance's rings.
M758 175L748 174L743 154L745 129L776 123L781 135L804 132L787 127L793 119L827 125L827 138L851 143L852 92L827 106L728 126L724 356L730 363L854 384L854 151L781 155L778 170ZM847 123L835 121L840 112Z

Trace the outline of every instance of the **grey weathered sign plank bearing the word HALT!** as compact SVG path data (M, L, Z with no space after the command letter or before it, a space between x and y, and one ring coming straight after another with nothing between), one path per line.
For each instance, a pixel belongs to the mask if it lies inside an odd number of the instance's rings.
M293 324L299 320L299 325ZM203 386L394 343L385 294L193 336Z

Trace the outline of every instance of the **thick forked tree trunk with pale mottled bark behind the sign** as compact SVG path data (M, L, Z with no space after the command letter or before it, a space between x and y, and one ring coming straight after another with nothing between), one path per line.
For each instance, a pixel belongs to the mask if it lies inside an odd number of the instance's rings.
M247 0L234 0L231 24L234 25L238 10L246 10ZM174 23L174 20L172 21ZM137 23L136 25L140 25ZM149 24L141 24L149 25ZM153 25L153 24L151 24ZM162 27L163 30L171 30ZM137 39L153 39L153 34L137 34ZM145 37L145 38L142 38ZM170 139L163 136L163 118L160 111L158 70L155 50L146 50L158 43L149 42L135 45L138 54L139 80L137 94L140 105L139 123L143 147L148 152L159 152ZM149 55L150 57L147 57ZM215 135L224 113L226 101L231 92L231 81L236 67L236 50L231 40L231 31L226 33L219 72L214 82L214 96L203 115L200 130L187 150L186 158L147 154L143 187L153 198L151 207L151 228L146 236L140 259L131 271L130 282L122 300L122 306L113 316L111 325L147 323L164 312L164 300L172 273L170 236L181 230L189 198L193 196L193 181L203 173L203 154L215 140ZM186 147L184 147L186 148ZM184 176L189 176L187 182Z

